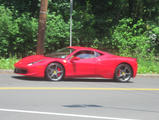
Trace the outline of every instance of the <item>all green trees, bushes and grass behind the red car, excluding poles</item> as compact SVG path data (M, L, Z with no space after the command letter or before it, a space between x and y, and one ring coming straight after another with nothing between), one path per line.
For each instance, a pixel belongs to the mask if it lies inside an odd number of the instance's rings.
M69 0L48 0L45 53L69 46ZM0 1L0 69L35 54L39 0ZM138 73L159 73L159 1L75 0L73 45L138 59ZM14 57L17 56L17 57Z

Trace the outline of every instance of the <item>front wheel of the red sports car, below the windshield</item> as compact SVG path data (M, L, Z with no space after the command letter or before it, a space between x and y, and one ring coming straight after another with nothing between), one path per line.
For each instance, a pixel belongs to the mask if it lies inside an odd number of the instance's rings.
M60 63L51 63L45 71L46 79L51 81L60 81L64 78L65 69Z

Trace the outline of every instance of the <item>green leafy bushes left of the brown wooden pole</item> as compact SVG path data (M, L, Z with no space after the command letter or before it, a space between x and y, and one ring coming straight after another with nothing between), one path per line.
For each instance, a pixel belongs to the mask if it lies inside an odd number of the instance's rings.
M0 56L26 56L36 46L37 19L23 14L17 19L8 8L0 6Z

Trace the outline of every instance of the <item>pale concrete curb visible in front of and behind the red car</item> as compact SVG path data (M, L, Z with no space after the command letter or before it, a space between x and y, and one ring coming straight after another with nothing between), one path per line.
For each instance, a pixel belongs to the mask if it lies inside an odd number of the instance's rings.
M14 70L0 69L0 73L13 73ZM137 77L159 77L159 74L137 74Z

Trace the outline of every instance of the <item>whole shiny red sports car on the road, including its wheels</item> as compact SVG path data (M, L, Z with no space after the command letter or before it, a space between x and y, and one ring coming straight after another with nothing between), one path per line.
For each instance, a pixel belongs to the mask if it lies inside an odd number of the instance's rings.
M121 57L87 47L67 47L32 55L15 63L15 73L59 81L69 77L103 77L127 82L137 73L136 58Z

